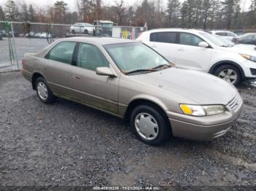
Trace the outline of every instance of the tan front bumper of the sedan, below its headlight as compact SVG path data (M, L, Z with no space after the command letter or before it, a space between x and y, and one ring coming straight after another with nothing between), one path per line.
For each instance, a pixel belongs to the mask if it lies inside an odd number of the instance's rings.
M240 95L239 95L240 97ZM185 114L167 112L173 136L191 140L211 140L227 133L241 114L243 101L236 109L227 106L228 111L207 117L192 117Z

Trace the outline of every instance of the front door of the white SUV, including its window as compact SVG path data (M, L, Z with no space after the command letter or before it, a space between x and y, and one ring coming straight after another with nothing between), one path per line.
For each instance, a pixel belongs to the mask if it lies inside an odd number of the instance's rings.
M187 69L207 71L211 63L213 49L211 47L199 47L198 44L203 41L203 39L195 34L179 33L176 65Z

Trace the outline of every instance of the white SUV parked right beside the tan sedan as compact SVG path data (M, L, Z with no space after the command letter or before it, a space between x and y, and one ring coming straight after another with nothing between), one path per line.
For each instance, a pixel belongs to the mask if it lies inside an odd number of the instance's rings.
M204 31L156 29L144 32L137 40L177 66L206 71L233 85L247 78L256 78L255 50L229 47Z

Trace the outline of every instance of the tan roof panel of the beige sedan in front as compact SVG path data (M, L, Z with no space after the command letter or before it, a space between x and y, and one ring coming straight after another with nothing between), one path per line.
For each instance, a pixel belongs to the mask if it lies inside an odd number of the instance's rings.
M61 41L84 42L84 43L91 43L91 44L98 44L98 45L138 42L130 39L116 39L116 38L110 38L110 37L71 37L71 38L61 39Z

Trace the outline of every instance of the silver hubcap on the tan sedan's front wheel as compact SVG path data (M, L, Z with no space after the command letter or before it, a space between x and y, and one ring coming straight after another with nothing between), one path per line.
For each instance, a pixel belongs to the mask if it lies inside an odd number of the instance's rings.
M157 120L150 114L141 113L135 117L135 128L143 139L154 140L159 133Z

